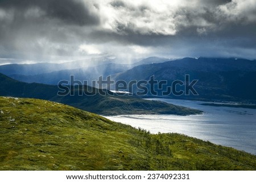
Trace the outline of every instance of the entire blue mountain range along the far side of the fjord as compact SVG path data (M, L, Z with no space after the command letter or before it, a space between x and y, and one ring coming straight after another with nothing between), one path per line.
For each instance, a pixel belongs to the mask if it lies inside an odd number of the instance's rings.
M50 85L57 85L61 80L70 80L71 75L81 82L87 81L87 85L90 86L95 86L92 84L92 80L109 75L115 81L123 80L127 83L132 80L149 81L151 76L154 76L158 82L167 81L161 90L158 90L158 85L155 85L154 89L157 94L147 93L147 97L162 97L162 91L167 90L167 86L171 86L173 81L184 81L185 75L189 75L189 80L198 80L194 86L198 95L191 93L181 96L167 94L164 97L253 103L256 100L255 60L205 57L170 60L161 57L148 57L133 64L117 64L116 62L117 60L115 63L111 63L111 60L102 63L96 61L90 67L82 67L85 63L79 64L77 61L63 64L2 65L0 72L15 80ZM75 67L79 68L73 69ZM146 86L150 89L148 85ZM116 88L113 85L111 89ZM129 90L131 88L126 91ZM137 93L139 88L134 87L132 90L133 93ZM184 90L184 85L179 86L177 90Z

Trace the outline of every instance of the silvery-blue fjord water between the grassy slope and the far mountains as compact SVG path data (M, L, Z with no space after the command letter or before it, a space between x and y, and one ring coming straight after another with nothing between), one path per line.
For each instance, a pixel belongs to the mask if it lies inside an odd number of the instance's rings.
M117 115L115 122L141 127L151 133L181 133L256 155L256 109L200 105L206 102L154 98L200 109L200 115Z

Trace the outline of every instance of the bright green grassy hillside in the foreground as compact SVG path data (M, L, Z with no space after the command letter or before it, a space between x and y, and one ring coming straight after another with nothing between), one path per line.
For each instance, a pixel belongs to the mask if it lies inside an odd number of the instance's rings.
M0 97L1 170L255 170L256 156L56 102Z

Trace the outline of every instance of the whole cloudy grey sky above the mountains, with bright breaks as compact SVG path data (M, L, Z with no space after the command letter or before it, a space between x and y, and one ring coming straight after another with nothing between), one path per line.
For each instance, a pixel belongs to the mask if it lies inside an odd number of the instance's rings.
M256 0L0 0L0 64L256 59Z

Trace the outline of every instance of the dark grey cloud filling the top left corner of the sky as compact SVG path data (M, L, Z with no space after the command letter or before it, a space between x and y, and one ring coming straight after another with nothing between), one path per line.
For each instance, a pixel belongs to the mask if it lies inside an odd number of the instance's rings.
M79 0L4 0L0 1L0 7L14 9L19 15L24 15L27 10L38 8L44 13L40 18L58 19L79 26L100 23L99 16L90 11L92 6Z

